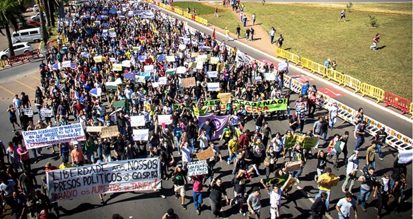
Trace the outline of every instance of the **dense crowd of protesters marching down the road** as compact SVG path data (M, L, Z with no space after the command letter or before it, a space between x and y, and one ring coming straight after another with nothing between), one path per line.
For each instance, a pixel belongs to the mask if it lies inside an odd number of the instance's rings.
M131 10L145 13L129 14ZM29 152L15 125L21 131L31 131L69 123L81 123L85 128L86 140L50 145L53 153L59 152L61 164L58 167L58 164L47 163L45 171L112 160L158 157L162 164L161 178L171 179L183 209L187 209L185 185L189 182L193 184L193 203L198 215L202 196L209 194L215 217L222 216L220 211L222 199L225 198L226 205L239 207L243 216L260 218L261 188L253 187L252 193L247 195L246 183L252 177L264 175L265 169L266 179L261 180L262 187L270 196L271 218L278 218L282 200L290 198L288 192L293 189L292 184L300 182L307 160L317 159L314 169L317 169L315 180L319 194L311 212L313 218L322 218L329 213L330 191L337 185L332 182L339 180L332 174L332 169L326 167L326 160L332 159L333 167L338 170L337 160L341 154L346 161L346 179L341 187L345 198L336 205L339 218L350 218L351 209L354 209L357 218L356 205L359 203L366 211L371 193L379 199L377 218L381 217L383 208L392 209L389 205L394 205L398 211L397 207L403 201L403 189L407 186L407 164L399 163L397 158L392 174L384 174L381 178L374 174L376 149L379 159L383 160L381 149L385 147L386 134L381 129L368 147L366 165L361 165L364 161L359 160L358 154L366 136L363 109L352 121L357 125L354 133L335 134L330 140L328 131L335 128L337 122L337 103L332 103L328 114L317 118L315 123L308 123L310 118L315 117L317 87L310 86L307 81L301 87L300 94L283 90L283 77L288 70L277 71L273 64L258 63L246 54L240 61L237 50L227 47L224 41L219 43L213 36L190 30L186 23L151 8L147 3L89 1L83 6L65 8L65 14L65 19L59 20L59 32L68 39L67 45L52 48L45 61L41 62L41 86L36 87L33 101L22 92L21 96L15 96L8 108L15 136L8 146L1 145L0 190L1 207L4 209L5 205L10 205L14 218L26 218L29 212L30 216L37 218L59 216L57 202L50 203L47 198L45 176L37 182L31 171L32 162L42 159L42 148ZM115 34L110 30L114 30ZM218 57L219 63L207 59L202 67L195 67L192 65L195 61L193 54ZM162 59L163 55L175 56L175 59L167 61ZM100 59L94 59L96 56ZM60 67L65 61L74 65ZM114 69L115 64L125 61L129 65L123 65L120 70ZM145 68L147 65L153 66L149 74ZM167 74L168 70L178 67L185 68L182 74ZM207 72L210 71L218 71L218 76L209 77ZM264 72L273 72L275 80L266 80ZM133 74L136 78L127 79L125 74ZM145 76L145 82L135 80L138 76ZM167 83L160 84L160 78L165 76ZM183 87L180 83L182 79L191 77L195 78L196 83ZM256 80L258 77L262 80ZM116 83L118 81L120 83ZM219 90L208 91L210 82L219 83ZM115 87L109 85L113 83L116 83ZM206 114L229 116L229 123L218 136L215 124L209 118L199 123L194 110L224 93L231 93L232 99L254 102L286 98L288 107L274 112L247 112L244 105L235 110L231 104L209 106ZM297 102L300 104L290 113L290 97L293 95L298 96ZM37 115L29 113L27 109L31 107L36 107L33 111ZM42 110L51 113L43 114ZM169 114L171 125L158 123L158 115ZM130 116L138 115L144 116L145 127L131 126ZM39 119L34 119L36 116ZM268 121L272 120L288 121L285 134L271 132ZM246 123L254 123L255 130L246 129ZM117 126L119 134L101 139L99 133L87 132L86 127L90 126ZM147 141L133 140L133 129L140 128L149 129ZM327 150L302 147L298 141L293 147L284 147L286 138L294 134L318 136L320 140L317 144L323 147L322 140L324 145L328 145ZM357 138L354 150L348 149L350 145L347 145L348 138L352 136ZM341 144L341 153L335 149L337 144ZM212 148L214 153L207 160L209 173L188 177L187 163L194 159L195 153L208 148ZM233 165L233 196L227 194L229 188L222 185L222 179L214 175L215 164L222 162L226 156L223 150L228 150L226 163ZM7 165L4 156L7 157ZM298 161L299 168L286 171L289 164L287 158ZM261 167L265 168L261 170ZM358 177L359 169L363 174ZM278 181L271 183L272 179ZM284 183L280 179L284 179ZM354 200L353 193L356 191L352 188L356 182L360 182L361 187L357 200ZM40 190L36 189L38 186ZM207 192L204 187L207 187ZM160 195L166 198L162 189ZM100 199L105 204L103 196ZM116 214L116 218L121 217ZM169 209L164 218L178 216L173 209Z

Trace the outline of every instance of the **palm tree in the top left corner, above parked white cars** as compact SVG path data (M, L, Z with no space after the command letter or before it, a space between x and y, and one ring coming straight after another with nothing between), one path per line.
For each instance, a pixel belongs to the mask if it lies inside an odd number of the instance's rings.
M21 3L14 0L0 0L0 24L3 25L6 29L6 37L8 40L10 56L14 56L10 26L14 28L14 30L18 30L19 22L25 23ZM5 35L1 30L0 33L3 36Z

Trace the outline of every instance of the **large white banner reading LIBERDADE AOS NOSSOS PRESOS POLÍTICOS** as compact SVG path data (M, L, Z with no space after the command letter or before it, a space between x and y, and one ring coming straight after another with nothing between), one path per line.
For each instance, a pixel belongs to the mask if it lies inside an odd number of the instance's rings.
M160 160L118 160L47 171L47 194L51 202L114 192L160 189Z

